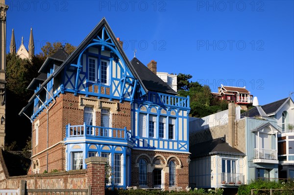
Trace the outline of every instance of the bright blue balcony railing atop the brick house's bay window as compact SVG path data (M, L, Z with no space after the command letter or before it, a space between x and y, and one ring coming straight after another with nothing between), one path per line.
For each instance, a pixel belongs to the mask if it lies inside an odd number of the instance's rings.
M87 139L116 139L121 142L131 141L131 132L118 128L105 128L99 126L86 125L66 125L66 138L87 137Z

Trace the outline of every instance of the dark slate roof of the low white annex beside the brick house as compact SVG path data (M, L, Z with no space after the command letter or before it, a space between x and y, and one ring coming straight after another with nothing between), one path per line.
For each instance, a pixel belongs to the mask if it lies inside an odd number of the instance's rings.
M217 153L245 155L238 149L232 148L228 143L224 141L223 137L194 144L190 146L189 151L191 152L191 158Z

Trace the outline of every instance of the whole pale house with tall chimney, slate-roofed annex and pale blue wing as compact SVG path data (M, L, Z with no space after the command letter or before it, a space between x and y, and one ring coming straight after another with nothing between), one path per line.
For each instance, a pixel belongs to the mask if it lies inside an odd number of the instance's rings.
M237 191L250 180L278 178L277 120L243 117L240 111L229 103L228 110L189 119L192 188Z

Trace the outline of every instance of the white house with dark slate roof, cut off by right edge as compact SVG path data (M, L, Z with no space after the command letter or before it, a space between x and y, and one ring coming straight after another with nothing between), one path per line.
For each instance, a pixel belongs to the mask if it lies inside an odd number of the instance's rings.
M294 103L291 97L256 106L242 114L246 117L276 119L278 134L279 178L294 179Z

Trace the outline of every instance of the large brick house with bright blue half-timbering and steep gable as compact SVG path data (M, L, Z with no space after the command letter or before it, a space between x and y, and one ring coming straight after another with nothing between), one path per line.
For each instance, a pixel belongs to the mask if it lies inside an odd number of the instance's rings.
M86 158L101 156L111 167L108 187L188 186L189 97L129 61L105 18L39 72L20 112L32 122L28 174L86 169Z

